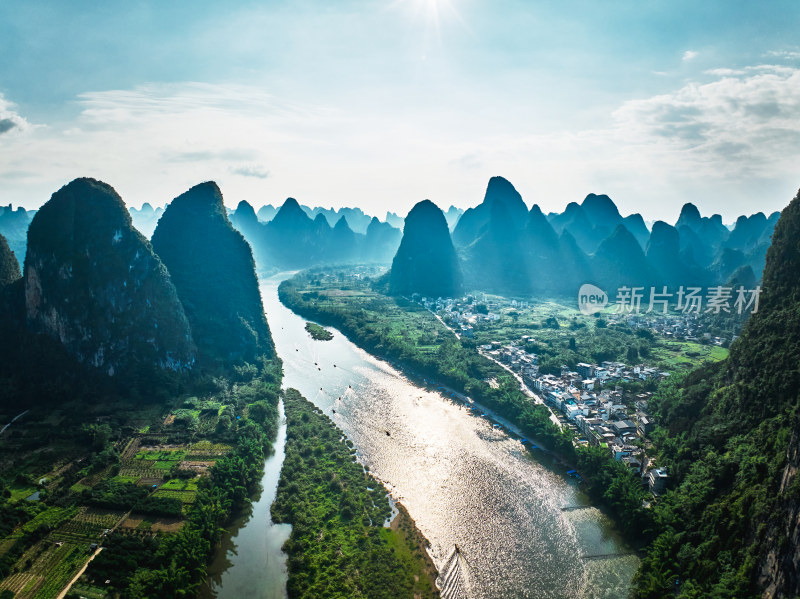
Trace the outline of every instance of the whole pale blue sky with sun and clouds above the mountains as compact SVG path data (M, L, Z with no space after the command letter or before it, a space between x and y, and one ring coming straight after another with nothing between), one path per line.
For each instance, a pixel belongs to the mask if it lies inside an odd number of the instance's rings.
M129 206L405 214L589 193L675 222L800 187L795 0L0 3L0 204L72 179Z

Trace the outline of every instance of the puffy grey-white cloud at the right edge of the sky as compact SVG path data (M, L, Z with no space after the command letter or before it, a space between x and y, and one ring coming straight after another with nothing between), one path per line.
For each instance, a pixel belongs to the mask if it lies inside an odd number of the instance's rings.
M625 102L615 113L628 143L652 145L687 168L733 177L800 160L800 69L717 69L710 83Z

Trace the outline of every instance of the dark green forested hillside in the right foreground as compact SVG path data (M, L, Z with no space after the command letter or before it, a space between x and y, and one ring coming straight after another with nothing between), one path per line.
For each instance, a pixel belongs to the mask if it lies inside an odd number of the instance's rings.
M673 490L639 597L800 593L800 194L775 228L764 291L730 357L662 387L653 408Z

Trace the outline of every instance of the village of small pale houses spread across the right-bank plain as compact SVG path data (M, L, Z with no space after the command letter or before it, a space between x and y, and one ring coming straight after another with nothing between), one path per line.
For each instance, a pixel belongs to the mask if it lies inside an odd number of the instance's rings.
M509 311L523 311L529 302L484 294L463 298L412 297L454 333L467 339L479 327L496 324L507 318ZM729 341L703 332L703 324L695 315L684 314L604 314L611 326L625 324L632 329L647 329L668 340L702 341L727 347ZM734 338L735 339L735 338ZM478 351L514 373L523 390L536 401L547 405L553 420L569 429L575 444L605 447L615 460L624 463L634 476L640 477L654 496L663 493L669 481L666 468L660 468L648 457L648 436L654 422L648 413L650 391L626 392L622 383L660 381L669 372L646 364L629 365L603 361L599 364L578 363L574 370L561 367L558 375L539 372L539 357L525 350L532 338L522 335L518 341L503 344L492 341L478 346Z

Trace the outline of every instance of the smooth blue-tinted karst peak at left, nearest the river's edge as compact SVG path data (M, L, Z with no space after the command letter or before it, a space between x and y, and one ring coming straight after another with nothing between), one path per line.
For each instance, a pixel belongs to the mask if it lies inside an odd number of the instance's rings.
M167 206L153 248L169 269L204 361L272 352L253 254L228 220L216 183L196 185Z

